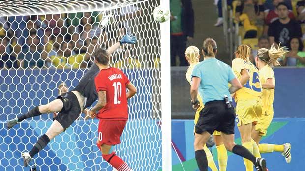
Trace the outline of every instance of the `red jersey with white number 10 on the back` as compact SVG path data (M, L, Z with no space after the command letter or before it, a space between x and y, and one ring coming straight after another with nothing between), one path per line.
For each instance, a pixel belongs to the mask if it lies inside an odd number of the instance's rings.
M102 69L95 77L97 93L106 91L107 103L96 115L102 120L128 119L128 106L126 97L126 85L130 81L127 76L117 68Z

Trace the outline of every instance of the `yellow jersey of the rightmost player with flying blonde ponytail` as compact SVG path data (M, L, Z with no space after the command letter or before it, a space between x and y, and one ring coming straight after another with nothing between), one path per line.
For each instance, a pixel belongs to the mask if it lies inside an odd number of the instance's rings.
M266 83L267 79L272 78L275 85L274 71L269 65L265 65L259 71L259 80L261 84ZM262 109L263 114L273 114L274 89L263 89L262 94Z

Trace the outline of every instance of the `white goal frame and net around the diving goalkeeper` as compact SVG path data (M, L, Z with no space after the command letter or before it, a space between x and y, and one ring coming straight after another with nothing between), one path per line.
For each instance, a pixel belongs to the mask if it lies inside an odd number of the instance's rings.
M169 0L15 0L0 5L0 171L28 171L21 153L50 127L53 114L27 119L7 130L5 122L72 90L92 64L96 47L109 47L131 32L135 45L112 55L138 89L116 153L134 171L171 171L169 21L152 11ZM101 29L104 16L113 16ZM96 146L97 119L84 114L34 156L40 171L112 171Z

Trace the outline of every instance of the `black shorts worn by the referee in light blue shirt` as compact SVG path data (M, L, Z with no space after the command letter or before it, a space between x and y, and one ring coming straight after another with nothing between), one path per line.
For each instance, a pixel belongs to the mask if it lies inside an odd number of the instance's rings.
M223 100L207 102L200 111L195 132L201 134L208 131L213 134L215 130L225 134L234 134L235 112L234 108L227 108Z

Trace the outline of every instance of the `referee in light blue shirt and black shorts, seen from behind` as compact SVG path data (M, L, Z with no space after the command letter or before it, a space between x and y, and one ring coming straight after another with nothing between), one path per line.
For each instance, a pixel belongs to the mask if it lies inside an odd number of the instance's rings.
M221 131L223 143L228 151L252 161L257 171L266 171L265 159L255 158L246 148L234 143L235 112L231 94L242 88L241 83L229 65L215 58L217 45L213 39L207 38L203 42L202 53L204 61L193 69L190 89L193 108L199 107L198 89L205 105L195 127L194 149L199 170L208 171L203 144L217 130ZM232 85L230 88L228 83Z

